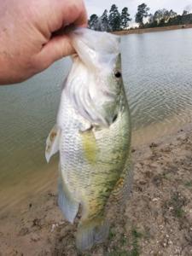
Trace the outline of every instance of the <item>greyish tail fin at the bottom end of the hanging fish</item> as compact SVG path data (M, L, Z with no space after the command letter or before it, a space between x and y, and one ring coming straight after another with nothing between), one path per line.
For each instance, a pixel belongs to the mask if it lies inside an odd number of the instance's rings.
M104 218L93 218L82 224L76 235L76 246L80 251L88 250L93 245L108 238L109 224Z

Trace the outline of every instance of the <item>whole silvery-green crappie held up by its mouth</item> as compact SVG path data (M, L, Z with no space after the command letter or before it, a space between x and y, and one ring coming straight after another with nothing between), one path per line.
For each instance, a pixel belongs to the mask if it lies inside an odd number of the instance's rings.
M111 195L129 189L131 122L121 77L119 37L86 28L70 34L77 52L61 93L46 159L60 153L58 203L73 223L80 250L108 237L105 209Z

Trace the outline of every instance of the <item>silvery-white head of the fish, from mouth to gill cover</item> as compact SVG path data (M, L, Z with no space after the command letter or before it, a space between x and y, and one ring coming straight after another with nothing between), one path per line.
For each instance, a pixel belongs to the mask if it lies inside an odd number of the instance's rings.
M65 89L73 107L91 124L108 126L118 112L120 86L114 76L119 37L79 28L70 34L73 67Z

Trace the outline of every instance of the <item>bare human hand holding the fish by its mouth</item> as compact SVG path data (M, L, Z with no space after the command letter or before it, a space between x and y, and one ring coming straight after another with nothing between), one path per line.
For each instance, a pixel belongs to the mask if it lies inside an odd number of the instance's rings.
M73 54L68 25L86 26L83 0L0 0L0 84L21 82Z

